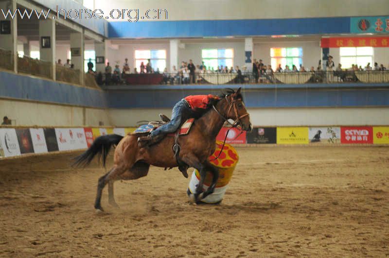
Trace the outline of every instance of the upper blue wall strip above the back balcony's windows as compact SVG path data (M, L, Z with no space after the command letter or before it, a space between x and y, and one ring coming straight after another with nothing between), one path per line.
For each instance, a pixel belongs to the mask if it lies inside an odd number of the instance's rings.
M350 33L350 17L118 21L108 23L109 38L181 38L339 33Z

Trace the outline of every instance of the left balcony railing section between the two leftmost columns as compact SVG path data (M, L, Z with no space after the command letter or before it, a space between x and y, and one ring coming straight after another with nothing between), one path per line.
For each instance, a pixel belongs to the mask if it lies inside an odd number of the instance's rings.
M51 62L34 59L29 56L18 57L18 72L53 79Z

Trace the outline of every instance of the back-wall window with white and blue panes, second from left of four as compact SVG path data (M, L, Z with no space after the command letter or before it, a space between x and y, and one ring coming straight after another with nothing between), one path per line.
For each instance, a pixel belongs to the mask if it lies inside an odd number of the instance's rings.
M233 67L234 50L233 49L203 49L201 50L201 59L206 69L214 70L217 67Z

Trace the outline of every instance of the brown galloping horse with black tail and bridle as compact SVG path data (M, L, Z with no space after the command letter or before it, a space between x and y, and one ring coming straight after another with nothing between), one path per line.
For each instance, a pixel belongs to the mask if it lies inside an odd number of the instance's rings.
M175 137L169 135L165 136L159 143L143 148L139 147L137 141L140 134L128 134L124 137L113 134L96 138L87 151L75 157L74 162L76 166L86 167L94 156L98 155L105 166L110 148L116 145L113 167L98 180L95 209L103 211L101 195L106 184L108 184L108 203L118 207L113 194L115 181L135 180L146 176L150 165L161 168L178 167L178 161L186 164L187 168L197 169L200 173L200 182L196 194L191 195L191 202L198 202L212 194L219 173L211 166L208 158L215 151L216 136L223 124L228 120L234 120L234 126L240 126L245 131L252 130L249 114L240 91L241 88L236 92L230 90L227 94L223 94L220 99L214 100L212 108L194 121L189 133L179 136L177 140L180 151L177 158L172 150L175 145ZM212 185L203 192L206 172L211 172L213 175Z

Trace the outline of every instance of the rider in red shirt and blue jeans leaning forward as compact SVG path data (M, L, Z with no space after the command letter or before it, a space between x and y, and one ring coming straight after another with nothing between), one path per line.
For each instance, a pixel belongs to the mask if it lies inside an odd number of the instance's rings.
M183 121L199 118L212 108L212 104L218 99L218 96L211 94L187 96L174 105L169 123L160 126L146 137L138 138L138 141L145 141L148 145L159 142L166 134L176 132Z

